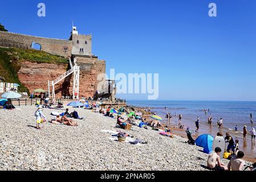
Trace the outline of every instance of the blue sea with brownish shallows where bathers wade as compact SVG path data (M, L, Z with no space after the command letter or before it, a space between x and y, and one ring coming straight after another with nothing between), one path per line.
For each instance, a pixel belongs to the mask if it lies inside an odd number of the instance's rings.
M200 118L200 134L210 134L213 137L218 132L217 121L223 119L222 133L229 132L234 139L239 139L239 145L244 150L256 156L255 143L251 142L251 135L248 133L247 140L243 141L243 126L247 126L247 130L252 128L256 129L256 102L255 101L158 101L158 100L144 100L135 101L128 100L128 105L145 107L156 112L157 115L162 117L163 123L168 123L165 119L166 113L170 112L173 116L170 121L171 125L178 125L178 115L182 114L182 125L196 130L195 122L197 117ZM166 109L165 109L166 107ZM204 110L207 110L205 113ZM209 111L208 111L209 110ZM250 113L253 114L254 124L250 123ZM176 114L176 117L175 117ZM208 117L212 116L213 124L209 126ZM235 126L238 129L235 131Z

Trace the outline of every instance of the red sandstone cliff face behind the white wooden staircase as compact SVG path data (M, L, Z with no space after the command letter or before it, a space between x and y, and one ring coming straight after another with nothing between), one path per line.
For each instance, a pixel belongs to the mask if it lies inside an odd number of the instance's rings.
M48 64L48 63L31 63L25 61L21 63L18 72L19 80L30 92L42 88L48 90L47 82L58 78L67 71L68 64ZM67 77L55 85L55 97L72 95L73 76ZM96 69L91 65L91 69L80 71L79 96L92 97L95 93ZM51 89L51 88L50 88Z

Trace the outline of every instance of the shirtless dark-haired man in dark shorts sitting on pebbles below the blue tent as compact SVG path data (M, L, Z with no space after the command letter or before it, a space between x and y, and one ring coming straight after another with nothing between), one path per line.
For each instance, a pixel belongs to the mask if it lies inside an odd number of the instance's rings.
M208 156L207 166L214 171L227 171L227 166L221 163L221 148L216 147L214 152Z

